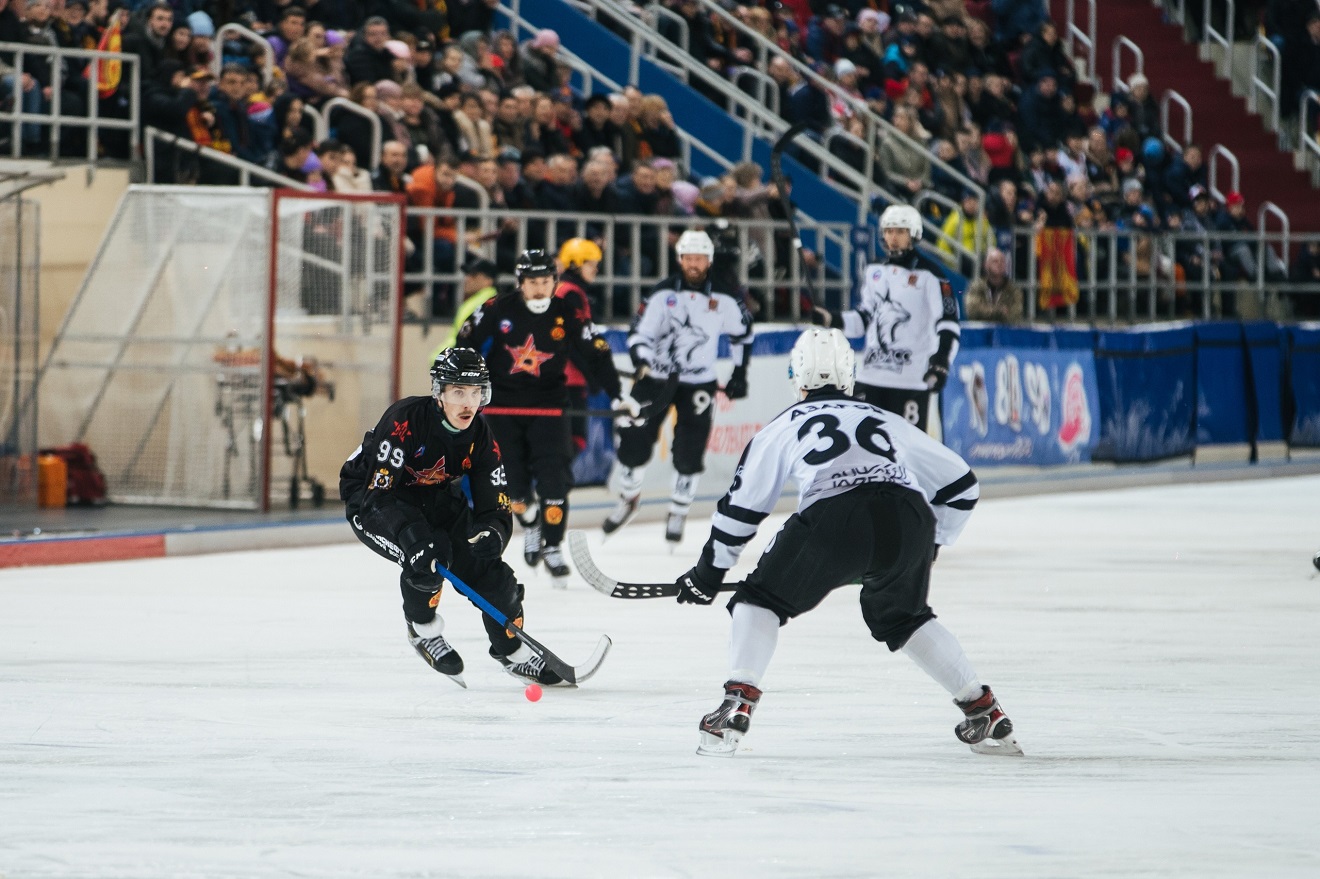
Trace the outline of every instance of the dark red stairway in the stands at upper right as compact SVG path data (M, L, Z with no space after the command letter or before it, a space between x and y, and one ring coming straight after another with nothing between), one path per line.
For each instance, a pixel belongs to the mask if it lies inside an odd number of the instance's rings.
M1085 28L1086 4L1076 3L1078 24ZM1049 12L1064 34L1064 0L1051 0ZM1197 57L1196 46L1183 41L1177 25L1166 24L1163 12L1150 0L1104 0L1096 15L1096 74L1109 90L1114 38L1127 37L1144 54L1151 94L1159 100L1166 88L1183 95L1192 106L1192 137L1206 150L1224 144L1242 166L1241 186L1247 216L1255 220L1262 202L1274 202L1288 215L1294 232L1320 231L1320 198L1309 178L1292 168L1292 154L1279 150L1275 135L1267 132L1259 116L1249 114L1246 102L1232 94L1229 83L1214 77L1214 67ZM1131 54L1123 53L1123 70L1131 73ZM1170 108L1170 123L1181 132L1181 110ZM1228 191L1232 177L1228 162L1220 161L1217 185ZM1278 228L1278 220L1270 220Z

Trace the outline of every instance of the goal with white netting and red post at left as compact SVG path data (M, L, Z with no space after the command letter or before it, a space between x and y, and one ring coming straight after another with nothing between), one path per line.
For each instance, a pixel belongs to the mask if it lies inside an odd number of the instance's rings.
M129 187L42 366L42 443L91 446L117 503L319 503L351 446L318 433L397 397L401 232L397 197Z

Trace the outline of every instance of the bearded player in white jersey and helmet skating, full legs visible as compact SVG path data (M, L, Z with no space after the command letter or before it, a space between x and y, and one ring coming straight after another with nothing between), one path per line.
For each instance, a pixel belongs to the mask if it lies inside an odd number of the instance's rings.
M718 391L719 337L729 337L734 362L733 375L723 388L730 400L747 396L752 341L751 314L742 300L711 288L710 261L715 245L710 236L686 231L678 236L675 252L678 275L661 281L647 297L628 335L628 351L636 368L632 396L648 416L642 424L619 428L618 457L611 474L611 482L619 488L619 503L603 524L605 533L611 535L636 515L642 476L672 404L677 412L675 474L664 535L671 542L682 540L688 511L705 470L706 440Z

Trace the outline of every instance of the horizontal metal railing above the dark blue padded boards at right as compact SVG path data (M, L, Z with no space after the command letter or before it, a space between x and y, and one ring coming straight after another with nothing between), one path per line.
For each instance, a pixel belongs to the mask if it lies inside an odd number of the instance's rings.
M1265 228L1267 215L1282 228ZM1320 234L1292 235L1274 206L1262 206L1254 232L1074 230L1077 302L1045 315L1040 308L1039 230L1011 231L1011 277L1023 290L1026 319L1140 323L1168 318L1292 319L1320 314L1320 282L1290 280L1291 253L1320 248Z

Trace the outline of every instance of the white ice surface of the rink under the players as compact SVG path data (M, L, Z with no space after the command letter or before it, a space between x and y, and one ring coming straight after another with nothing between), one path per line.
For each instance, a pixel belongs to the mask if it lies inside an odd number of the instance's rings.
M766 523L739 570L781 517ZM672 579L630 527L598 562ZM0 875L1320 875L1320 476L983 502L932 604L1024 759L972 754L857 587L791 623L743 750L698 758L721 606L528 585L539 703L446 593L467 690L358 544L0 573Z

